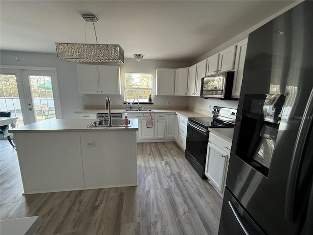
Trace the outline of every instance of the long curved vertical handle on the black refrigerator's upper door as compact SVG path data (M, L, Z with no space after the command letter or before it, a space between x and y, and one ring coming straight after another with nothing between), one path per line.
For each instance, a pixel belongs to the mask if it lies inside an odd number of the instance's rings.
M295 220L295 201L296 193L299 185L300 169L302 165L302 158L304 156L305 146L310 133L310 127L313 124L313 89L311 91L309 100L304 110L303 118L300 123L299 132L295 142L295 146L291 158L291 166L288 174L286 200L285 200L285 218L288 221Z

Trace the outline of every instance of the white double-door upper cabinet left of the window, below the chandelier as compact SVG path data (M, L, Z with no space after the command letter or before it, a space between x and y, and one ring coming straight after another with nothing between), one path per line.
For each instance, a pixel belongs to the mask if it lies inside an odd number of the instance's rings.
M77 65L80 94L121 94L119 66Z

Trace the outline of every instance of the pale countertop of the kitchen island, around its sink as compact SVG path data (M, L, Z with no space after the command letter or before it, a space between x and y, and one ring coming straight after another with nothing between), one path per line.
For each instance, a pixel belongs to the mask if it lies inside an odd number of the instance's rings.
M10 133L26 132L87 132L87 131L137 131L138 119L133 120L132 126L120 127L87 127L94 119L46 119L9 130Z

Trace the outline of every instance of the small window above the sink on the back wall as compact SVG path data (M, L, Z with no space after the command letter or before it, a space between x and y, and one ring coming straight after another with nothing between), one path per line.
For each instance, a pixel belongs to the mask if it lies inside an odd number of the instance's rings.
M125 100L131 102L138 98L139 103L148 103L149 95L152 97L152 74L125 73Z

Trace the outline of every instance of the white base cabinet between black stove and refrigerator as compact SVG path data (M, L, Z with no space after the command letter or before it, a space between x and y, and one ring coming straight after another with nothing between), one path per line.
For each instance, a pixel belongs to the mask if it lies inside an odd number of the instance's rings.
M210 184L222 196L224 194L230 149L230 142L210 132L204 173Z

